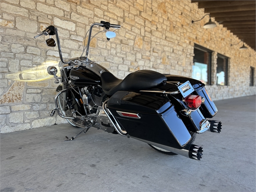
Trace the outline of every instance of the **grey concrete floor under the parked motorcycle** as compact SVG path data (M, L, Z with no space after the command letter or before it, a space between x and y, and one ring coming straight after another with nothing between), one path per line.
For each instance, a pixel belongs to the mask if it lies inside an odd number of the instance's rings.
M256 191L255 96L216 101L222 132L197 135L201 161L68 124L0 135L0 191Z

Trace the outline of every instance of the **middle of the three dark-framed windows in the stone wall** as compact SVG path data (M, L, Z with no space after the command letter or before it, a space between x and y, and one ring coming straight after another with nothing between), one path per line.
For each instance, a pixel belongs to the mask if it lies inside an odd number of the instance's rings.
M216 85L228 85L228 57L217 54Z

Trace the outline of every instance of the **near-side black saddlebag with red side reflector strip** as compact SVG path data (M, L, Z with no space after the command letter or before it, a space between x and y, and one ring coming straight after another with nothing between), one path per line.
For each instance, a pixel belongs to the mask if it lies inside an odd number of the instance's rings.
M106 108L132 138L182 149L191 139L170 101L151 94L116 92Z

